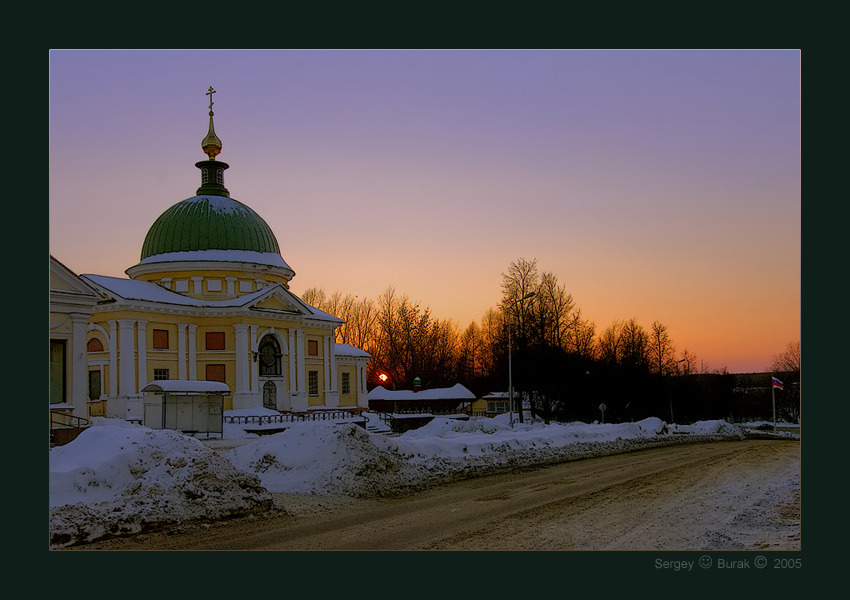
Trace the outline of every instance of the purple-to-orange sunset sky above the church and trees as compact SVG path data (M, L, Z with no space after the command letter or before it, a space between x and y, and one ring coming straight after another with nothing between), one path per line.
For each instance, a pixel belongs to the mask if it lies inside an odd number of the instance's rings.
M537 259L601 333L699 370L800 340L797 50L50 53L50 253L125 277L195 195L208 96L231 197L311 287L462 328Z

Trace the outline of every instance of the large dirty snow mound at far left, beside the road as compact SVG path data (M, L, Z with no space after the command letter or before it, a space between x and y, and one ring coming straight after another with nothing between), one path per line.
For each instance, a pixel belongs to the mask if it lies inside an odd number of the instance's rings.
M142 531L155 523L267 510L260 480L192 437L96 419L50 451L50 544Z

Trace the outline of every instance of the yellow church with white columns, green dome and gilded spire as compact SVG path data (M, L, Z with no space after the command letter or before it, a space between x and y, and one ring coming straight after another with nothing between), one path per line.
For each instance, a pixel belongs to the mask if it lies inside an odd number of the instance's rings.
M65 367L73 382L61 394L51 388L51 405L64 398L78 416L137 420L143 388L168 379L225 383L225 410L368 407L369 355L336 343L343 321L290 291L295 272L271 228L225 188L212 104L196 194L154 221L128 279L79 276L85 310L64 336L76 352L75 366ZM51 292L51 315L56 310Z

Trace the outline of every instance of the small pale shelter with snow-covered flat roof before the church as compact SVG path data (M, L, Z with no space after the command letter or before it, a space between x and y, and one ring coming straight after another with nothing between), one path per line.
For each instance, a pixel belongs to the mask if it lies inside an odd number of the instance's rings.
M163 379L153 381L145 393L143 424L151 429L176 429L182 433L217 433L224 430L225 383Z

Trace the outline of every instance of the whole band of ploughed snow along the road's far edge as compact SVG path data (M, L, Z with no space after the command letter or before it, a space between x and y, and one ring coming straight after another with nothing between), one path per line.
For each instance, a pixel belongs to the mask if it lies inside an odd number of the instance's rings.
M201 440L96 418L76 440L50 450L49 543L268 511L274 493L391 495L503 468L743 437L741 426L725 421L511 425L502 415L435 418L395 437L345 422L295 423L262 436L225 424L220 439Z

